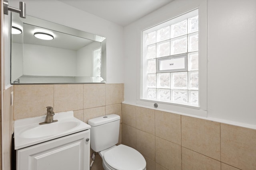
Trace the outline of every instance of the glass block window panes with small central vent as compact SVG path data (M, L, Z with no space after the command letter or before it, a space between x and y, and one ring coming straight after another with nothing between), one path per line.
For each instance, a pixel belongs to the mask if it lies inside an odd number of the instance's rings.
M141 98L198 106L198 10L142 35Z

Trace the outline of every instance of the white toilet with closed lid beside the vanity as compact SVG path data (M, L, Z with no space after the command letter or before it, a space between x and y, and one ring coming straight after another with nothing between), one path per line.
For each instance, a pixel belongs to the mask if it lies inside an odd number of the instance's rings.
M106 115L88 120L90 145L102 158L105 170L146 170L146 160L137 150L118 145L120 116Z

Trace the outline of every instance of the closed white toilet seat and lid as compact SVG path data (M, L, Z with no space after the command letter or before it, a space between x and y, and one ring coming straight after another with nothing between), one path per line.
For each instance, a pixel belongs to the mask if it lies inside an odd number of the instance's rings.
M113 170L145 170L146 161L137 150L118 145L104 153L104 162Z

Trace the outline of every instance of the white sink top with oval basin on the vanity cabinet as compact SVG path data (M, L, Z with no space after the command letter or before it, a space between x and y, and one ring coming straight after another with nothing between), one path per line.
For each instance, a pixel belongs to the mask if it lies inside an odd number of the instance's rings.
M14 121L15 150L90 129L90 125L74 117L73 111L56 113L54 120L58 121L39 125L45 117Z

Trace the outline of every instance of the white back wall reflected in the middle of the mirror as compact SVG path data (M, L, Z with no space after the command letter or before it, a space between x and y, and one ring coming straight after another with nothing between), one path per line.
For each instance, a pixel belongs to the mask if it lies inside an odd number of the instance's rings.
M76 76L76 51L34 44L23 48L24 75Z

